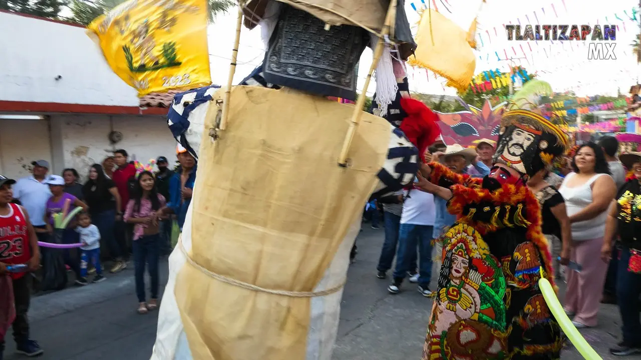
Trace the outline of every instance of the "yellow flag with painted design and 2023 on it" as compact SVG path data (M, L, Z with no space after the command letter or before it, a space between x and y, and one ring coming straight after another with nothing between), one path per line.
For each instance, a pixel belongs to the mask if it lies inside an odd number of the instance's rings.
M138 96L212 83L206 0L129 0L94 19L89 36Z

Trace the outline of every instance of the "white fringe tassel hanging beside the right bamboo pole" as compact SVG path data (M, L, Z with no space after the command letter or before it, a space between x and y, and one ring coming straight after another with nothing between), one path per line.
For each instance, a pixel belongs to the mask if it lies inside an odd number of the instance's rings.
M378 43L378 37L371 34L370 42L372 49L374 49ZM396 99L396 93L399 90L399 85L394 76L390 44L385 44L385 48L383 48L383 54L378 61L378 65L376 65L374 79L376 80L376 104L378 104L378 109L380 110L379 116L385 117L387 115L387 106Z

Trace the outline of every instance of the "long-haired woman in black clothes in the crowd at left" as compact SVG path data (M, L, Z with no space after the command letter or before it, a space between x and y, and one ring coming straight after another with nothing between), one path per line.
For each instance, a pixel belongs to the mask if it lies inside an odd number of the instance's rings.
M89 179L83 186L83 193L92 222L100 231L101 240L116 263L121 263L122 249L113 235L116 218L122 215L121 197L112 179L104 174L102 165L91 165Z

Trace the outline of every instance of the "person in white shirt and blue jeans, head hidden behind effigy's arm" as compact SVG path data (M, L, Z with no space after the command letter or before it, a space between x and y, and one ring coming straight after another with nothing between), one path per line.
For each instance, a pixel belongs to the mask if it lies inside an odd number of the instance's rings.
M415 180L416 181L416 180ZM396 268L394 269L394 281L387 290L397 294L401 290L401 283L407 276L412 258L416 258L416 250L419 248L419 292L423 296L431 295L429 281L432 272L432 233L434 231L434 220L436 209L434 206L434 195L412 188L405 190L403 202L403 213L401 214L401 226L399 227L399 245L396 254Z

